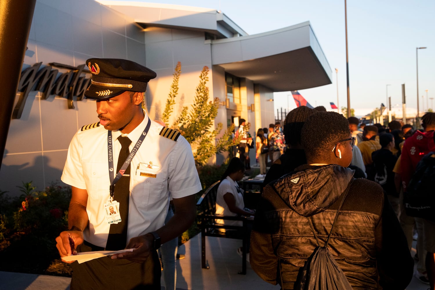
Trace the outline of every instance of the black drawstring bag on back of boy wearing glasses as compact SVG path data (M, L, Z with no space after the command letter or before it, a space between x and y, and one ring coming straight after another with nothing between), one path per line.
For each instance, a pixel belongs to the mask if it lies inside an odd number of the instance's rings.
M334 228L335 221L338 218L338 213L345 201L346 195L348 194L351 183L349 182L348 187L342 194L342 199L340 206L338 207L337 213L335 214L334 222L332 223L331 231L326 238L325 246L320 247L319 240L316 236L313 223L307 217L310 223L311 230L313 231L314 237L316 238L318 247L315 248L314 252L305 262L302 271L299 273L296 282L294 283L294 290L351 290L352 287L349 284L345 274L340 269L340 266L335 262L334 257L328 250L329 237L331 236L332 229Z

